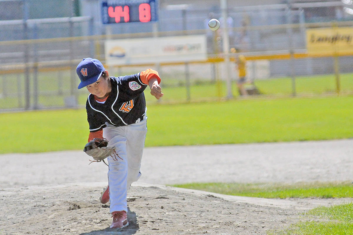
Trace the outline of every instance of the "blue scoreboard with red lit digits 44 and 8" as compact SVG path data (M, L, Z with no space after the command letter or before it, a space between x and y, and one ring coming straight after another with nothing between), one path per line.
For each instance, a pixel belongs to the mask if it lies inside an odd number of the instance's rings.
M157 0L103 0L103 24L157 21Z

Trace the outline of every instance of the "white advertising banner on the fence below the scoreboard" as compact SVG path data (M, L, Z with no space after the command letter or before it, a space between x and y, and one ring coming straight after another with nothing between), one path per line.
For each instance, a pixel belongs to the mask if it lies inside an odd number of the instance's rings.
M207 60L205 35L133 38L105 42L108 66Z

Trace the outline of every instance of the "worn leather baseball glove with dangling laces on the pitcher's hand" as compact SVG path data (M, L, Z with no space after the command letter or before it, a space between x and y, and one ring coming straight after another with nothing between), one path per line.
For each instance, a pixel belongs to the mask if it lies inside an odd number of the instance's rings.
M94 138L90 142L86 143L83 151L87 155L93 157L95 161L90 160L91 163L100 162L112 155L118 156L118 154L116 154L115 147L108 147L108 141L105 138ZM115 156L115 159L116 159L116 156Z

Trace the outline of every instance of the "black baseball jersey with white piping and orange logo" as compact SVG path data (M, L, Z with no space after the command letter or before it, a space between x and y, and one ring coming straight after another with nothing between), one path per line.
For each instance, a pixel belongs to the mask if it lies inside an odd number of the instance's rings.
M110 77L112 91L104 104L95 101L89 94L86 102L87 120L90 132L106 127L106 122L114 126L124 126L142 120L146 112L143 93L147 84L140 80L140 73Z

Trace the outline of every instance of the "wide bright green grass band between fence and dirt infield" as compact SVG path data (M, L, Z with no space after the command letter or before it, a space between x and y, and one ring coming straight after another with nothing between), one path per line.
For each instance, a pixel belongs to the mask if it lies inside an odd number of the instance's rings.
M329 140L353 136L352 97L149 105L146 146ZM82 149L84 109L1 113L1 153ZM21 143L21 144L17 144ZM13 145L13 146L11 146Z

